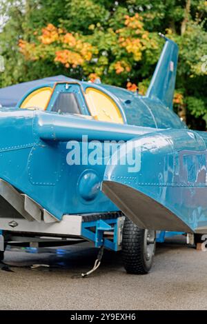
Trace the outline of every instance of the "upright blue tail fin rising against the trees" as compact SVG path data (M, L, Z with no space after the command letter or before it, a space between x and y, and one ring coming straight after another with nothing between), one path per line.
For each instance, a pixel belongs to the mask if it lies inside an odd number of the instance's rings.
M172 109L172 100L175 91L175 79L177 72L178 46L162 34L166 43L159 57L153 74L147 97L161 100L168 108Z

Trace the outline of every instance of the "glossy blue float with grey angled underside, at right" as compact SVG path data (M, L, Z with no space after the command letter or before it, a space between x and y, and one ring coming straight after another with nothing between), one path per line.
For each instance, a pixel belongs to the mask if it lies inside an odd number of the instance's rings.
M205 232L206 134L162 130L133 141L141 148L139 171L129 172L128 164L109 163L103 192L140 227ZM124 145L120 151L126 150Z

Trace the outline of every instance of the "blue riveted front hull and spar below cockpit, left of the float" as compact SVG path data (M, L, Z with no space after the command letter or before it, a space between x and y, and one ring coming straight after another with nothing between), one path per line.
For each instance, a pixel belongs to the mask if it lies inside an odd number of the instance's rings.
M50 112L2 110L0 178L26 193L57 219L63 214L118 210L100 190L106 168L104 154L98 165L67 163L67 143L71 139L81 141L80 130L84 130L89 140L101 141L127 140L153 131ZM86 145L88 150L89 143ZM84 160L87 150L82 147L80 150ZM103 151L103 144L99 150Z

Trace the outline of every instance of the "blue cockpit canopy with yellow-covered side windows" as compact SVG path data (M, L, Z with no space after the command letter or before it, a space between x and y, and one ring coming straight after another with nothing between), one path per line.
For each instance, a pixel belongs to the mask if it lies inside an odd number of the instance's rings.
M39 85L30 90L17 107L151 128L185 127L179 117L159 100L89 82L62 81Z

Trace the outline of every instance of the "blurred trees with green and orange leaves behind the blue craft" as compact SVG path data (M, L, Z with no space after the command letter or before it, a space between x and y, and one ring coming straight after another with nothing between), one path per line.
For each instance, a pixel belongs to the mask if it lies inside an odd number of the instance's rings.
M207 122L207 1L0 0L0 86L65 74L146 92L167 34L179 45L174 108Z

